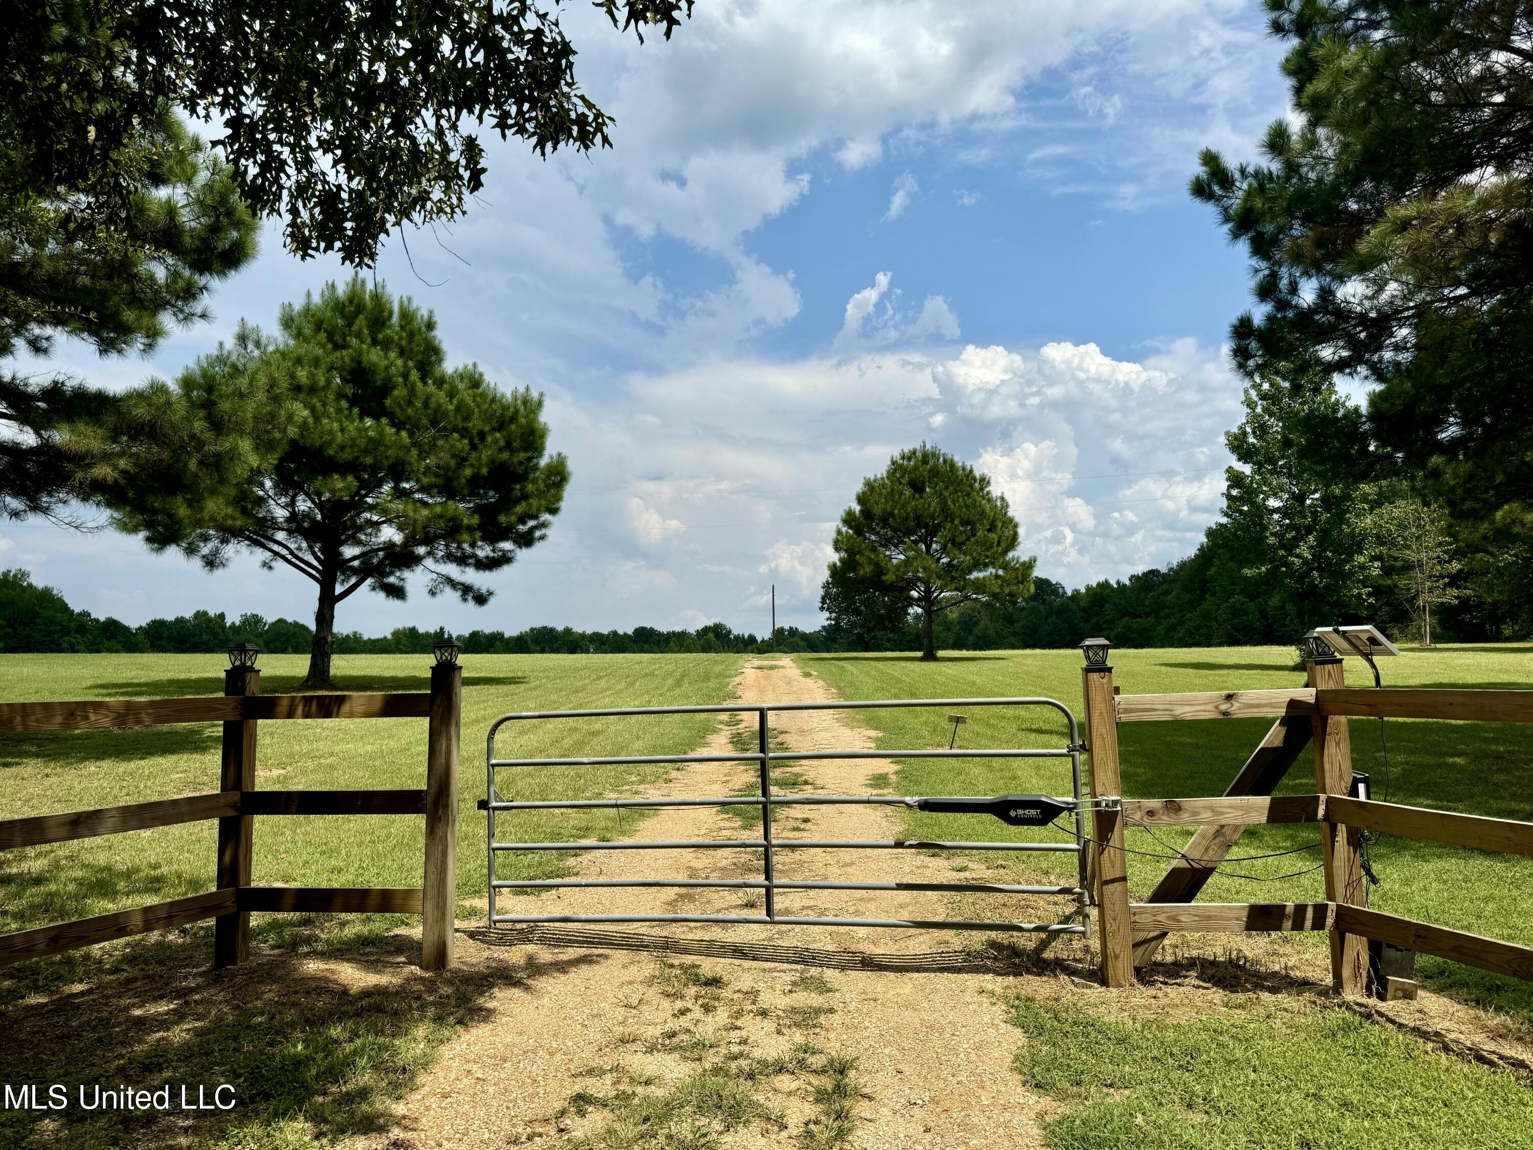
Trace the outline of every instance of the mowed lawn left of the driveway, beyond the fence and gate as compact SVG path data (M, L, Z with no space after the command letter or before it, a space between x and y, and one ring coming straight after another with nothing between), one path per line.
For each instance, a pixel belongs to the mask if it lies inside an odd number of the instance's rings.
M307 658L262 656L262 693L291 690ZM739 670L733 655L530 655L463 659L458 892L484 892L484 733L507 711L722 702ZM0 655L0 699L121 699L216 695L218 655ZM429 688L423 655L340 656L340 690ZM506 728L501 756L675 754L698 745L714 716L538 721ZM216 791L218 724L135 731L0 736L0 817L20 817ZM593 797L659 777L656 767L561 767L501 771L521 799ZM425 719L271 721L261 724L258 785L284 790L423 787ZM632 817L632 816L629 816ZM254 882L293 886L419 886L420 816L313 816L256 820ZM625 826L627 826L625 819ZM498 834L570 840L616 834L612 813L501 817ZM213 888L216 823L35 846L0 854L0 932ZM501 860L501 877L560 874L546 853Z

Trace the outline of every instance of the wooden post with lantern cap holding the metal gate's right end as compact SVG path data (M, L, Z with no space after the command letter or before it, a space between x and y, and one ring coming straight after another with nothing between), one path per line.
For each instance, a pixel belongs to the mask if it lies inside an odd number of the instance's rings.
M1102 662L1090 662L1091 646L1101 646ZM1087 639L1087 665L1081 672L1085 698L1085 744L1091 770L1091 797L1122 797L1118 770L1118 716L1113 710L1113 669L1107 665L1107 641ZM1108 986L1134 980L1133 918L1128 909L1128 856L1124 853L1124 813L1093 813L1091 886L1096 891L1096 931L1101 940L1102 977Z

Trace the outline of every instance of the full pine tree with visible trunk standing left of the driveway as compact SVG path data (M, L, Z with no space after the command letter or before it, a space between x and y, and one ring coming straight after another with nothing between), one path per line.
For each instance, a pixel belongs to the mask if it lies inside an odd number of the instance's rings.
M281 311L281 339L231 347L129 402L164 429L152 469L109 488L115 524L208 569L236 550L317 587L305 687L330 684L336 607L363 587L483 604L491 572L541 541L569 468L546 455L543 397L448 368L435 319L354 278Z

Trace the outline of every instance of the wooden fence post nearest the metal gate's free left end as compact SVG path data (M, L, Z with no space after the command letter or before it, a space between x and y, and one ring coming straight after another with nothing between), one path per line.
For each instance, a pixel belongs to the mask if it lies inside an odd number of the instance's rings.
M420 969L452 966L452 920L458 906L458 728L463 667L431 669L426 733L426 879L422 885Z

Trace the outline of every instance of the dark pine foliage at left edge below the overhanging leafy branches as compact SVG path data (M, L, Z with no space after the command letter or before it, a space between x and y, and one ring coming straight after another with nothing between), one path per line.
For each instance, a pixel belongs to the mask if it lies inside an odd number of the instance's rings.
M57 517L132 468L140 440L110 394L3 360L60 336L103 356L153 350L207 316L213 282L254 256L256 221L228 166L162 107L104 156L110 178L46 170L14 129L0 107L0 515Z

